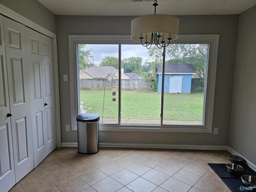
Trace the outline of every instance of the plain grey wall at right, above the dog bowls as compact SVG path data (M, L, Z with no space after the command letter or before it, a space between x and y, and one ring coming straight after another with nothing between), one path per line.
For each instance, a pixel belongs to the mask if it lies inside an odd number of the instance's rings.
M256 6L239 16L229 146L256 164Z

